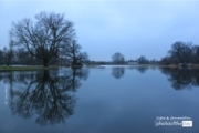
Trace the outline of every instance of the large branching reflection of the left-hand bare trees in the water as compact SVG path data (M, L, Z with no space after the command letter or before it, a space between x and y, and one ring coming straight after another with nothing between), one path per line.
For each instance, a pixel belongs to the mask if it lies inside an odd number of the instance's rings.
M36 114L41 125L64 123L74 113L73 92L81 80L88 76L87 69L40 71L4 76L10 84L10 108L13 115L24 119Z

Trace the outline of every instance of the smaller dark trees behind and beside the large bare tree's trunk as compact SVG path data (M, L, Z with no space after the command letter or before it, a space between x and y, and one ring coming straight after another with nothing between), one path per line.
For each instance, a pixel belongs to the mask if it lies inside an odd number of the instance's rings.
M72 64L81 65L83 62L88 61L88 55L86 52L81 52L81 45L74 44L71 47L71 51L65 51L60 53L57 57L53 57L49 64ZM73 52L75 51L75 52ZM0 49L0 64L25 64L25 65L43 65L43 61L34 55L32 55L25 48L9 49L4 47Z

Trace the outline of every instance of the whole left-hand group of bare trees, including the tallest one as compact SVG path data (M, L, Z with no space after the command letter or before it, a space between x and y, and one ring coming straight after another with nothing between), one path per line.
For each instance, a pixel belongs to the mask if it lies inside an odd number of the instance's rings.
M7 65L13 60L21 60L23 63L27 63L24 60L34 63L36 61L43 66L57 61L81 65L88 60L88 55L81 52L73 25L71 21L65 20L64 14L53 12L41 12L35 16L35 21L25 18L13 22L9 49L2 50L1 54L7 57Z

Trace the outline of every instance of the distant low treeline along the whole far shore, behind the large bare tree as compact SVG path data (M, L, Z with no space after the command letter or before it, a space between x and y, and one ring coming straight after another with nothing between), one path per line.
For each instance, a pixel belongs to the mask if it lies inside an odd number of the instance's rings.
M80 49L80 48L78 48ZM73 52L71 52L73 53ZM80 54L82 59L87 59L87 54ZM72 55L71 59L76 58L77 55ZM70 64L73 60L67 57L52 57L49 64ZM155 59L148 60L146 57L140 55L136 60L125 60L124 55L119 52L116 52L112 55L112 61L82 61L87 64L179 64L179 63L199 63L199 45L193 45L191 42L175 42L171 45L171 49L168 51L168 54L164 57L160 61ZM20 49L8 49L3 48L0 50L0 64L25 64L25 65L42 65L43 61L34 55L32 55L24 48Z

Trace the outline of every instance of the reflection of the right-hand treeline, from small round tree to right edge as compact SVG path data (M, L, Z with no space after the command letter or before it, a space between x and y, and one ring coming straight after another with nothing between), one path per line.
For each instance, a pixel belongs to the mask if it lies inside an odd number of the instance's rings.
M148 70L160 70L160 72L168 76L168 81L176 90L191 89L199 86L199 69L178 69L178 68L159 68L159 66L129 66L129 70L136 70L145 73ZM124 75L125 68L113 68L112 75L119 79Z

